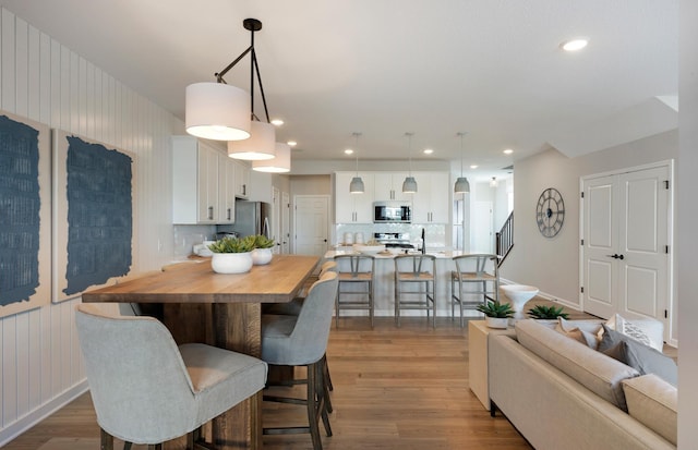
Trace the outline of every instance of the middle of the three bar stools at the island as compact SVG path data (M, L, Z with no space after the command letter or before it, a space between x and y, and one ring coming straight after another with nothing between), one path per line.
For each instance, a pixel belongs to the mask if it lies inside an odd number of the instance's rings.
M433 255L395 256L395 324L400 326L401 309L424 309L436 328L436 258ZM412 287L404 290L405 287ZM418 299L414 299L417 296Z

